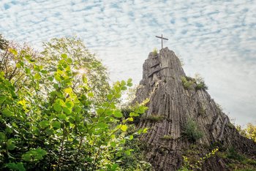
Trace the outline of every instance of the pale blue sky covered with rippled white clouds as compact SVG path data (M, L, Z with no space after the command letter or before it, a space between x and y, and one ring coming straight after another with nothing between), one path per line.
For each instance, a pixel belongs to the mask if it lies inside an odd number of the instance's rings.
M256 123L256 0L0 0L0 33L36 49L53 37L83 39L110 80L142 78L154 47L173 50L189 76L236 123Z

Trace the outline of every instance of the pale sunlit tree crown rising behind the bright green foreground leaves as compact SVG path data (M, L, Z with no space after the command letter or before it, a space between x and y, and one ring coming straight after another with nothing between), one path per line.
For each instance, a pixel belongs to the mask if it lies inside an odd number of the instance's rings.
M50 42L45 42L43 47L40 61L42 64L48 63L49 74L55 72L54 68L61 60L61 54L65 53L72 59L70 64L74 72L72 88L77 92L81 91L82 76L86 74L87 84L94 92L94 99L99 102L105 101L109 90L107 70L95 54L89 52L82 40L75 37L53 38Z

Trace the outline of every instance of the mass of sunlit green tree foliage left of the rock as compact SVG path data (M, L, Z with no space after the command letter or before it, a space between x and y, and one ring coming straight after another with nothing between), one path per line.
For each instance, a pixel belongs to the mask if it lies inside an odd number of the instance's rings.
M131 79L105 91L101 87L108 86L101 83L105 81L105 67L94 56L88 54L83 61L82 52L68 51L75 47L48 45L41 56L45 61L36 61L26 50L10 48L8 53L17 61L7 62L12 63L10 69L0 71L1 170L125 169L118 157L132 152L125 143L135 134L146 132L141 129L127 134L133 118L144 113L146 107L138 106L129 118L124 118L116 105L122 91L132 86ZM59 54L61 50L68 54ZM78 58L69 56L73 53ZM78 62L84 62L90 70L81 73L79 83ZM97 70L100 68L101 72ZM10 79L9 72L15 69L17 75ZM94 78L99 72L102 77ZM22 83L27 84L20 87ZM101 94L105 94L105 101L99 103L94 96Z

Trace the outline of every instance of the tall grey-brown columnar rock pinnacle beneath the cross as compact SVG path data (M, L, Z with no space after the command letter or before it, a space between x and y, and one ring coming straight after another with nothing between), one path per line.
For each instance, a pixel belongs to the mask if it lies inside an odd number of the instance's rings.
M234 148L256 158L256 143L238 133L204 88L196 88L196 83L184 88L181 77L186 77L181 62L167 47L157 55L149 53L143 64L143 79L134 102L149 99L138 128L148 127L140 140L154 170L178 170L182 156L193 145L198 157L216 147L223 151ZM186 135L189 121L196 123L203 137L193 140ZM227 159L213 156L204 162L203 170L228 170L227 163Z

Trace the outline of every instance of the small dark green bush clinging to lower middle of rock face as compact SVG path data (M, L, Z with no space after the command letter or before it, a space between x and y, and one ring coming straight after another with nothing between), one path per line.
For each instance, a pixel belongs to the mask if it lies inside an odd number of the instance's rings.
M196 142L203 137L203 132L199 129L199 126L197 126L197 123L192 120L192 118L187 120L183 134L191 142Z

